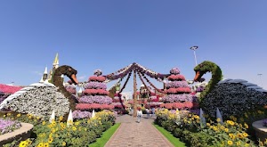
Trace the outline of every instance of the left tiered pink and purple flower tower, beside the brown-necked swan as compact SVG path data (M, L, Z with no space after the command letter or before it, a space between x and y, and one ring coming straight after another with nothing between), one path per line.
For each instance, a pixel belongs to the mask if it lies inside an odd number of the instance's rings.
M101 76L101 70L94 71L85 85L84 96L78 99L77 110L112 110L112 99L108 96L107 86L103 83L106 80ZM88 113L89 116L89 113Z

